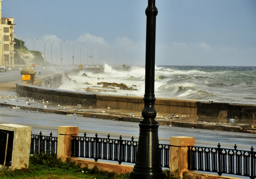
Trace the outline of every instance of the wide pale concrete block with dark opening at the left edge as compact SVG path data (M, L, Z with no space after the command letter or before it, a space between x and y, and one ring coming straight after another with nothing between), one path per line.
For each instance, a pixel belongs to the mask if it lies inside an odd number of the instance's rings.
M14 170L29 167L31 127L18 124L0 124L0 130L6 134L6 137L1 136L1 140L6 141L7 139L8 143L7 146L5 145L7 150L2 151L1 149L0 155L2 155L1 158L4 163L0 165L0 168L7 167L9 170Z

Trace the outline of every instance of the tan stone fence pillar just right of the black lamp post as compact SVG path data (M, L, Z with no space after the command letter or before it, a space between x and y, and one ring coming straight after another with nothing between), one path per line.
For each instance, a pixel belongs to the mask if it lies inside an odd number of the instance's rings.
M195 145L194 137L171 137L170 138L170 170L173 172L178 168L178 173L187 170L187 146Z

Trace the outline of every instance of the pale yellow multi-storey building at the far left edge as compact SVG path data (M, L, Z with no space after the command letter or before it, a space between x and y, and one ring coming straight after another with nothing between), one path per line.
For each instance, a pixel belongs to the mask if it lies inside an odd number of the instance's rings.
M0 65L14 67L14 18L2 18L2 0L0 0Z

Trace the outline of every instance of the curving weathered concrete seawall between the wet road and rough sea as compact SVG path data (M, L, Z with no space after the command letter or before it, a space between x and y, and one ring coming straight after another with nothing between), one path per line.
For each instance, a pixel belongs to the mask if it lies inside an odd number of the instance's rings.
M101 72L103 68L84 68L84 72ZM66 71L44 79L36 80L35 85L19 82L17 93L23 96L58 101L66 104L81 104L94 108L127 109L142 111L143 97L114 96L87 92L76 92L56 89L69 74L78 74L79 70ZM156 99L155 108L158 113L205 116L215 118L255 119L256 105L239 103L200 102L197 100Z

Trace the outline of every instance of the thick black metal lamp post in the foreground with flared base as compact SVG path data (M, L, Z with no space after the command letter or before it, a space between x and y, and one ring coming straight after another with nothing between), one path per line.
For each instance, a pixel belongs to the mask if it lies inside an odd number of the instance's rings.
M140 121L140 135L137 150L136 163L131 172L131 179L164 179L159 143L158 143L158 121L155 120L155 26L157 8L155 0L148 0L146 8L146 65L145 65L145 94L144 108L142 110L143 120Z

